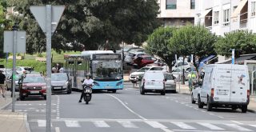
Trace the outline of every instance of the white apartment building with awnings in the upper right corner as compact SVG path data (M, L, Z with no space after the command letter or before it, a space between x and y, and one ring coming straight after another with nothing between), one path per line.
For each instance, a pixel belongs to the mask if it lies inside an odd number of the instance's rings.
M224 35L233 30L256 33L256 0L195 0L195 25Z

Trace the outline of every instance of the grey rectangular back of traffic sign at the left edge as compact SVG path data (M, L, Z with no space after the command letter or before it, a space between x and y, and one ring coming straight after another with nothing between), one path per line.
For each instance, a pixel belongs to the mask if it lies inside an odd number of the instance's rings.
M3 51L13 52L14 31L4 31ZM26 53L26 31L17 31L16 53Z

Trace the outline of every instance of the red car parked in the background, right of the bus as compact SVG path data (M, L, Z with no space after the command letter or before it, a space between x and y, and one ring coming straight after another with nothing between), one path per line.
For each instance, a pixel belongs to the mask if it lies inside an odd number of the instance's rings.
M157 59L151 56L142 56L135 58L133 61L134 68L142 68L147 64L154 63Z

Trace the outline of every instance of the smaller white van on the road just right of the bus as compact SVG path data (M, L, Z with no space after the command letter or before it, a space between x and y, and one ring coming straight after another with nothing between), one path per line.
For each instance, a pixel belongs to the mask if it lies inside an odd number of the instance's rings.
M140 93L146 92L166 94L166 79L162 70L146 70L140 84Z

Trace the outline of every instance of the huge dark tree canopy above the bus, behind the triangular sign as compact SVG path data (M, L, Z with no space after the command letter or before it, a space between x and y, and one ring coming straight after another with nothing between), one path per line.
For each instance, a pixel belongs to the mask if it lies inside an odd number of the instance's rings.
M21 14L15 21L20 30L26 30L30 54L46 50L46 37L30 13L30 6L66 6L52 38L55 50L81 50L81 44L86 50L97 50L121 42L140 46L159 26L157 0L12 0L8 4Z

